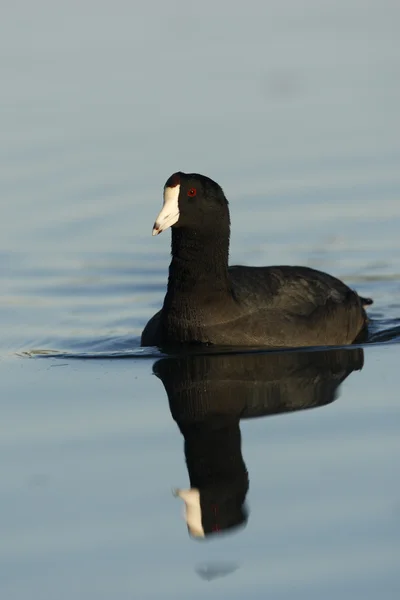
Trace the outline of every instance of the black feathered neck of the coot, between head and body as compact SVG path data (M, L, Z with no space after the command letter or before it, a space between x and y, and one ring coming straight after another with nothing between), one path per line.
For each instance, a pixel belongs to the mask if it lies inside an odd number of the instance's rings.
M177 297L198 294L208 297L229 289L229 224L206 233L195 229L172 229L172 261L169 267L167 303Z

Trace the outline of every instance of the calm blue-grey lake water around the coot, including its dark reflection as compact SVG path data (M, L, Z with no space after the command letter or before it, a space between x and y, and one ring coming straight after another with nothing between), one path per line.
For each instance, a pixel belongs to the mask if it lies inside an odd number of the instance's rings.
M390 0L3 7L1 598L400 596L399 18ZM176 170L223 186L232 263L372 296L370 342L140 349ZM190 481L205 541L171 491Z

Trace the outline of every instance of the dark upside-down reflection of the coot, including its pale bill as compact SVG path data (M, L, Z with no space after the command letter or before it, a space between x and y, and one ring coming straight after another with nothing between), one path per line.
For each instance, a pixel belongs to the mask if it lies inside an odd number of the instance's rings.
M190 488L175 494L185 502L189 533L204 538L247 522L241 419L329 404L342 381L363 364L361 348L188 355L156 362L154 373L185 439Z

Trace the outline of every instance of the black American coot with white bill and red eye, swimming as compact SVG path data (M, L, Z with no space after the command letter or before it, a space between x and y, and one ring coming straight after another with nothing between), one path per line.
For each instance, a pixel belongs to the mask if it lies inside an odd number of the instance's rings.
M228 201L209 177L171 175L153 235L169 227L168 289L142 346L340 345L366 331L364 306L372 300L331 275L308 267L228 267Z

